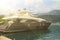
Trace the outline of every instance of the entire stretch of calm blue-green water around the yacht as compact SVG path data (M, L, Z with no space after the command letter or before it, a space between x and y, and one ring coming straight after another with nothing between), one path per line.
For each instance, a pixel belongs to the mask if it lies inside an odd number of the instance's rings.
M60 24L51 24L48 30L18 33L0 33L15 40L60 40Z

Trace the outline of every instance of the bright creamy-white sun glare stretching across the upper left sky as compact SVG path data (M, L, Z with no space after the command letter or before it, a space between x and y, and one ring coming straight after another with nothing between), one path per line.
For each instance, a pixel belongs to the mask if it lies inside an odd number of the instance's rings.
M16 9L22 7L23 3L24 7L26 7L37 2L42 3L43 0L0 0L0 12L1 14L16 12Z

